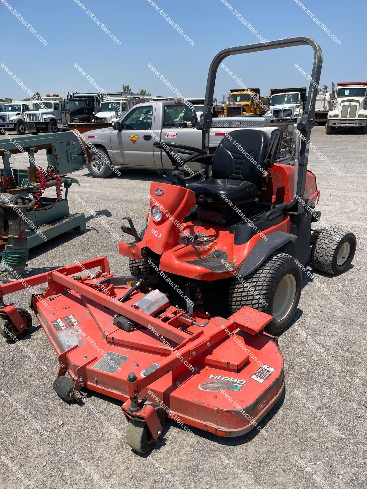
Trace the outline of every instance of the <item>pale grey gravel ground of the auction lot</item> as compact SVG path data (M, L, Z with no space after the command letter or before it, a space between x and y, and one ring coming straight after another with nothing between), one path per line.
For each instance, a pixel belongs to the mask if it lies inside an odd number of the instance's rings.
M260 423L266 435L253 430L224 439L193 428L190 437L176 422L167 421L151 454L137 455L125 443L119 402L92 394L93 409L88 409L57 397L52 382L58 361L34 320L31 334L18 344L2 338L0 342L1 488L23 488L29 480L38 489L366 487L367 136L326 136L323 127L316 127L311 140L341 173L338 176L310 151L309 169L321 190L317 208L328 225L352 230L358 248L343 275L315 271L329 294L303 275L295 320L279 337L286 393ZM39 162L45 161L39 156ZM26 158L18 156L14 166L25 163ZM70 211L85 212L87 231L67 233L30 250L28 266L40 273L104 254L114 273L128 273L118 240L83 210L74 194L119 234L126 215L138 229L143 227L150 181L157 175L122 170L118 178L100 180L82 170L73 176L80 187L73 185L69 191ZM23 293L12 300L17 306L28 305Z

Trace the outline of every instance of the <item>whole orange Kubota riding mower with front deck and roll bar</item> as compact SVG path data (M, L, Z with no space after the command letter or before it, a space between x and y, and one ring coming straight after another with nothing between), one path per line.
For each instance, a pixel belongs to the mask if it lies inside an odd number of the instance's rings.
M310 249L312 264L332 274L353 258L353 234L311 232L320 216L313 211L316 178L307 171L313 84L298 123L295 165L276 163L279 129L271 137L261 130L231 132L208 155L214 82L223 59L302 44L314 50L312 80L319 83L322 53L310 38L232 47L215 56L197 125L203 148L157 143L176 168L164 183L151 184L143 233L124 218L130 227L122 229L134 241L120 243L119 252L130 258L132 276L111 274L101 256L0 286L1 334L14 340L28 333L31 316L6 306L3 296L44 285L34 291L31 307L59 358L55 391L66 401L81 400L83 388L121 400L126 441L135 450L152 448L166 416L219 436L250 431L284 388L283 358L270 333L286 327L296 311L299 265ZM187 155L180 165L173 148ZM204 163L204 178L186 184L180 166L193 159ZM175 289L183 283L184 292L175 297L162 275ZM214 290L219 300L210 305Z

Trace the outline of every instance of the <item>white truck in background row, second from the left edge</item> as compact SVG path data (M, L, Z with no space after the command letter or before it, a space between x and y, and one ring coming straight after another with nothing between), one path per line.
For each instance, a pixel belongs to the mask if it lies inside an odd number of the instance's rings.
M24 114L25 127L30 134L38 134L40 131L57 133L61 123L61 111L65 107L65 99L58 93L46 94L40 101L34 104L31 111Z

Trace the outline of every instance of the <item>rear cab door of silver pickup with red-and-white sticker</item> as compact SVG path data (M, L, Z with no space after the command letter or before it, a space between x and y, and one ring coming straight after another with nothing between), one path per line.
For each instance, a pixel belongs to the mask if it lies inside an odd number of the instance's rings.
M187 123L188 127L176 127L176 124ZM163 128L161 132L161 140L167 143L184 144L186 146L194 146L201 148L202 132L192 127L192 124L197 123L196 113L184 104L166 105L163 113ZM184 159L187 155L180 154ZM172 163L168 156L162 151L161 162L163 168L172 169ZM188 163L190 170L199 171L200 163Z

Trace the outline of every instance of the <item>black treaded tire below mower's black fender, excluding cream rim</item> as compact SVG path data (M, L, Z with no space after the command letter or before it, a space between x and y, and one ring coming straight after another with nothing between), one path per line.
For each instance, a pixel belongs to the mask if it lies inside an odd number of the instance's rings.
M248 306L273 315L276 288L280 280L288 273L292 273L296 279L296 295L293 305L281 321L273 318L265 328L267 333L279 333L288 326L295 315L302 290L302 271L295 263L295 259L287 253L273 253L254 272L244 277L249 287L246 287L245 283L240 282L237 277L233 277L229 286L229 311L234 313L243 306ZM251 288L257 293L251 292Z

